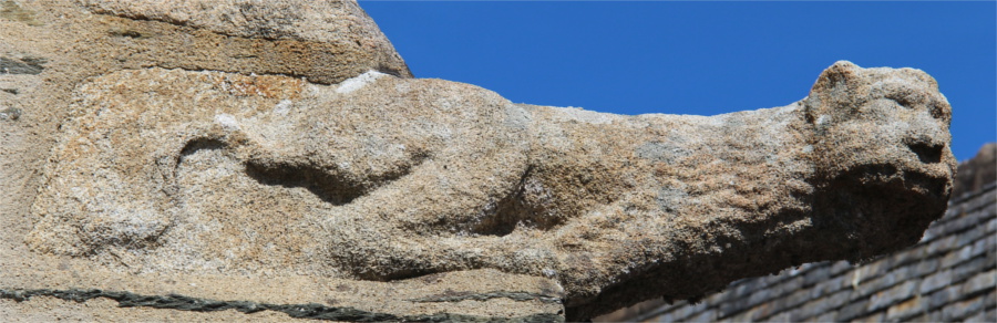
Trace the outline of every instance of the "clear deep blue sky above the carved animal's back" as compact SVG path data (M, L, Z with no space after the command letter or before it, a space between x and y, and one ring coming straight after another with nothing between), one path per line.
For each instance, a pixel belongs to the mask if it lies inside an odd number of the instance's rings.
M964 160L997 140L997 4L360 1L417 77L517 103L713 115L806 96L837 60L926 71Z

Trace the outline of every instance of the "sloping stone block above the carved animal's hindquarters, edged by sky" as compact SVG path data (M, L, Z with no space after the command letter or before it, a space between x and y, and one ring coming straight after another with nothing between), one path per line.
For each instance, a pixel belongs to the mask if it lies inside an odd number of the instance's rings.
M411 76L394 46L354 0L79 1L94 13L132 19L122 21L111 33L138 43L145 41L148 48L184 46L171 46L169 42L177 41L175 37L181 34L164 32L166 27L136 21L166 22L179 27L168 29L188 35L179 40L193 35L206 41L205 48L194 48L195 53L215 51L215 56L199 67L204 70L296 75L318 83L340 82L368 70ZM184 59L175 62L177 67L192 69L186 64L197 64Z

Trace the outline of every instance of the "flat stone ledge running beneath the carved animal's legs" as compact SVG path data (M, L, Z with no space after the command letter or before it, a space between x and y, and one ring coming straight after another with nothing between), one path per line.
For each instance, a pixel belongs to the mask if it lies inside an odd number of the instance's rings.
M564 319L563 290L556 282L495 270L448 272L392 282L147 273L131 274L129 278L137 279L126 283L120 281L120 274L115 277L101 268L63 263L60 270L73 274L34 272L7 282L0 289L0 315L11 315L13 321L38 321L17 313L30 313L22 303L55 298L88 304L103 299L134 309L119 313L111 311L113 316L106 310L93 311L92 306L66 306L69 309L64 310L52 306L47 313L48 317L84 321L188 317L184 320L286 322L289 317L298 317L359 322L556 322ZM91 288L64 288L73 284ZM174 311L150 313L148 309ZM176 313L178 311L204 314L181 315ZM273 315L275 313L280 315Z

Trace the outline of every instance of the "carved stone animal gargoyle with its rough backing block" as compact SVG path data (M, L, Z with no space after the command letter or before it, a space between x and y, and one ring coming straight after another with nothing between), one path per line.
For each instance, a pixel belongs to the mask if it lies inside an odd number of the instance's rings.
M369 72L125 70L79 86L27 242L137 271L492 268L569 317L919 239L946 207L927 74L839 62L783 107L621 116Z

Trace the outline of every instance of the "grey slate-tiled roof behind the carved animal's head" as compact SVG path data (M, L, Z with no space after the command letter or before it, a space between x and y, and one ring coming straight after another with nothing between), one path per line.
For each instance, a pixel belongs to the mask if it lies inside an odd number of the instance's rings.
M988 144L959 166L945 217L916 246L868 263L808 263L700 302L645 302L596 321L997 322L997 181Z

